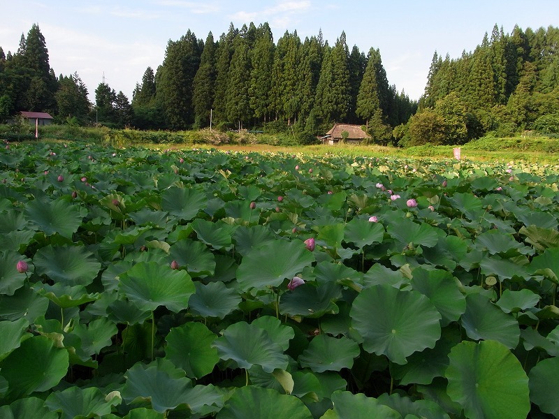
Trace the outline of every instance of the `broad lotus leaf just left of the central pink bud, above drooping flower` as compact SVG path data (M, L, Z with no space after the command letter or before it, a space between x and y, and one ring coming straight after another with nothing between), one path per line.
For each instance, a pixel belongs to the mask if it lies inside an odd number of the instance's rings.
M286 278L292 279L313 262L313 253L303 242L277 240L253 249L242 258L237 281L242 291L250 288L263 290L268 286L279 286Z

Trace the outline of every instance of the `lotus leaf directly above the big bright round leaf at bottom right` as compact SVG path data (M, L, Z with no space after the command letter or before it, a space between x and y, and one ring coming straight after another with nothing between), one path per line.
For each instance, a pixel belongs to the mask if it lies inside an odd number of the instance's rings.
M520 339L518 321L481 294L467 295L461 323L470 339L499 341L509 349L516 348Z

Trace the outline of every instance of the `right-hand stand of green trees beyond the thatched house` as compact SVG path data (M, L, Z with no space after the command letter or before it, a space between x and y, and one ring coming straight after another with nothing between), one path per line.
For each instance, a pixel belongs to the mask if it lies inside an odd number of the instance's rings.
M482 135L559 135L559 29L496 24L473 52L433 55L419 110L393 131L402 145L460 144Z

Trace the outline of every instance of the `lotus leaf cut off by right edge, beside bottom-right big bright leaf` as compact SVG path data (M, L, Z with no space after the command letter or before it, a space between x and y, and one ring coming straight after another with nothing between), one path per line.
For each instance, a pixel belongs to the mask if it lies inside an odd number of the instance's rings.
M530 401L537 404L542 412L559 418L559 398L551 394L559 386L559 358L539 361L530 369L528 376Z

